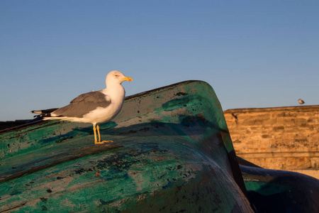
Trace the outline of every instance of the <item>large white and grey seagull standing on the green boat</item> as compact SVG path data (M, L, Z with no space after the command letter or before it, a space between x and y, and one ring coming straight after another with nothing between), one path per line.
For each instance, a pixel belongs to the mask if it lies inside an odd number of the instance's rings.
M35 117L43 117L44 120L62 120L93 124L94 143L107 143L101 141L99 124L111 121L121 111L125 89L124 81L133 81L117 70L108 72L106 75L106 89L80 94L69 102L69 105L57 109L34 110L31 113L40 113ZM99 141L96 138L96 131Z

